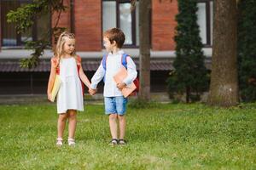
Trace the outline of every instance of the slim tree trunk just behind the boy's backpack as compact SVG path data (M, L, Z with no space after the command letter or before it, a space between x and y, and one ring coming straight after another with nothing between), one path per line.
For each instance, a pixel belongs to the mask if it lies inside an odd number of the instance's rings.
M151 0L140 0L140 91L139 99L150 99L150 9Z

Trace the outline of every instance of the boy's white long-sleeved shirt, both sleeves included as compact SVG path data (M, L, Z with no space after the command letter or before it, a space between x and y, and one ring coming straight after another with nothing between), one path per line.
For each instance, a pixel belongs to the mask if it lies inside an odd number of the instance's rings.
M116 82L113 80L113 76L117 74L119 69L122 66L122 54L124 54L123 50L119 50L116 54L109 53L108 58L106 61L106 75L105 69L103 65L99 66L94 76L91 78L91 86L90 88L96 89L97 84L101 82L102 78L105 75L105 85L104 85L104 97L115 97L115 96L122 96L123 94L117 88ZM129 85L133 82L137 77L137 70L136 65L131 59L131 57L127 57L127 72L128 76L125 78L123 82Z

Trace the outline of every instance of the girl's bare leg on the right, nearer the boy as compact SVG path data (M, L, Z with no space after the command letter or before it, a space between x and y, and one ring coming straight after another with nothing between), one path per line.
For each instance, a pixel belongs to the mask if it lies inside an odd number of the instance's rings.
M77 111L68 110L68 139L74 139L77 127Z

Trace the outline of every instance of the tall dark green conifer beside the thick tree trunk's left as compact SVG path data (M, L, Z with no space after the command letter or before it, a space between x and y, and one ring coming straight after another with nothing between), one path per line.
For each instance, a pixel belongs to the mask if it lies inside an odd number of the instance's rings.
M204 65L205 56L202 52L200 30L197 24L197 1L178 0L176 16L177 34L176 58L173 66L175 71L167 79L168 92L171 98L174 94L186 94L186 102L200 99L200 94L208 88L207 69Z

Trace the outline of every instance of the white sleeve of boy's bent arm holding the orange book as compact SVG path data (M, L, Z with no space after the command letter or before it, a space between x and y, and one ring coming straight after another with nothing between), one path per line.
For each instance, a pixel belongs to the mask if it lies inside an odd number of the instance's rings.
M123 80L126 85L131 84L137 77L136 65L131 59L131 57L127 57L127 77Z

